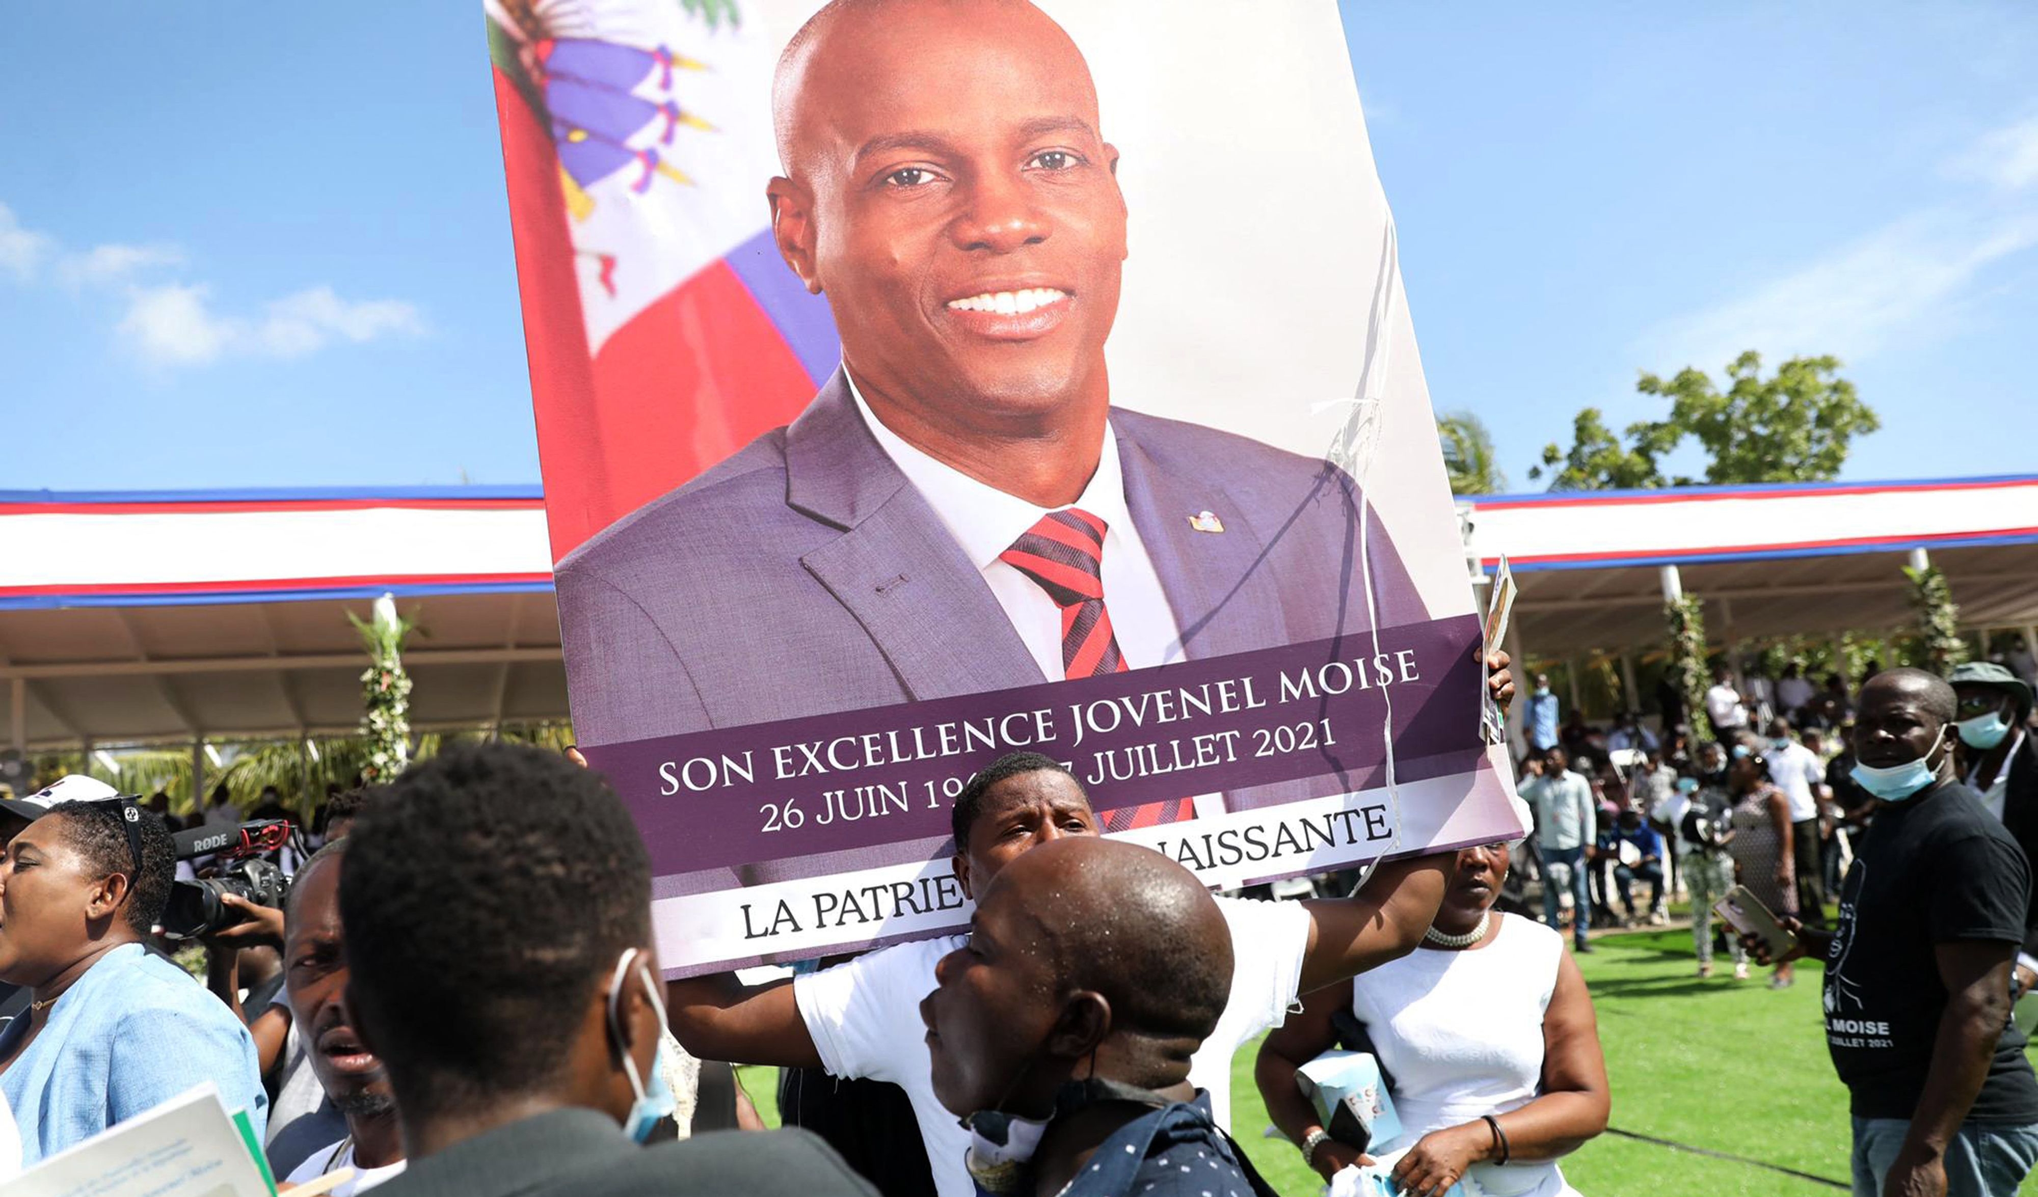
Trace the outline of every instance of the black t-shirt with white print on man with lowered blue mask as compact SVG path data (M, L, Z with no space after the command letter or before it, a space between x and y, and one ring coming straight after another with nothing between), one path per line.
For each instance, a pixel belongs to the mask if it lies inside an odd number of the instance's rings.
M1826 959L1826 1048L1857 1118L1910 1118L1946 1010L1934 945L2024 943L2030 865L1981 796L1942 782L1879 806L1840 886ZM2038 1122L2026 1036L2003 1028L1971 1122Z

